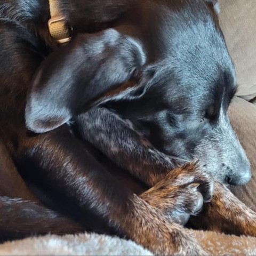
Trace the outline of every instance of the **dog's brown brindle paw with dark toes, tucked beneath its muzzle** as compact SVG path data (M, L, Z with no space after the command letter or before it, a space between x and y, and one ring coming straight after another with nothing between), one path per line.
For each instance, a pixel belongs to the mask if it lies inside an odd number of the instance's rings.
M211 175L201 172L196 163L171 171L166 179L141 195L170 220L185 225L190 215L196 215L213 194Z

